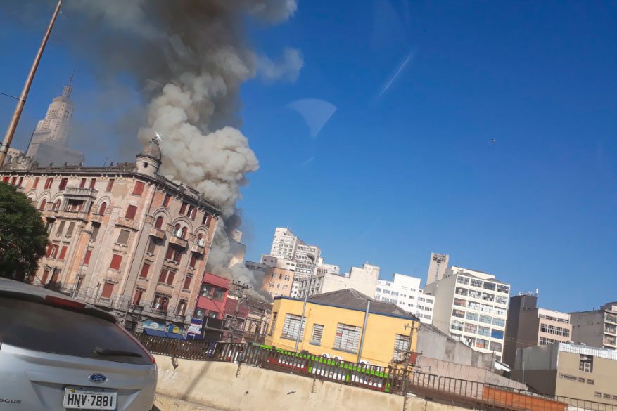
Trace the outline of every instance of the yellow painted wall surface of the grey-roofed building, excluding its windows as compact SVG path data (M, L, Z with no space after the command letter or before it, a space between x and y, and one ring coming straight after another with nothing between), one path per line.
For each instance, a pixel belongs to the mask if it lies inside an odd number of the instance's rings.
M276 348L284 348L293 351L295 347L295 339L287 339L281 337L283 326L285 323L286 314L298 315L302 313L303 301L292 299L276 299L272 313L277 313L276 325L274 332L268 330L266 344L275 346ZM364 325L364 311L355 311L347 308L337 308L331 306L323 306L314 303L307 303L305 318L307 325L304 330L304 336L300 340L298 351L306 350L315 355L327 353L329 355L338 356L346 361L357 361L357 353L348 353L339 351L334 346L336 337L336 328L338 323L361 327ZM272 327L272 318L270 320ZM320 346L310 344L311 334L314 324L324 326L324 334ZM405 329L407 325L407 329ZM369 313L367 322L367 332L364 334L364 346L362 348L362 360L368 361L371 365L381 365L385 367L390 365L390 361L394 355L394 343L396 334L409 335L411 331L409 326L413 325L414 330L419 326L417 322L405 318L389 317L387 315ZM412 339L411 351L416 348L416 332Z

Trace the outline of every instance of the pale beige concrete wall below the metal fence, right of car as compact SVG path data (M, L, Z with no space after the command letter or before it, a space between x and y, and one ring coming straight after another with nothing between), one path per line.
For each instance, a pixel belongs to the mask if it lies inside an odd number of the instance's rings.
M234 363L177 360L155 355L161 411L459 411L431 403L299 375ZM171 400L170 398L174 398Z

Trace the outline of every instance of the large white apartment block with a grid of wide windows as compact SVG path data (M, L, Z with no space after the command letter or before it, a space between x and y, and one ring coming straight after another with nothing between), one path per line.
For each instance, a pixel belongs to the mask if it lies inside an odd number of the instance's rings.
M433 325L496 360L503 358L509 292L495 275L457 266L424 287L435 297Z

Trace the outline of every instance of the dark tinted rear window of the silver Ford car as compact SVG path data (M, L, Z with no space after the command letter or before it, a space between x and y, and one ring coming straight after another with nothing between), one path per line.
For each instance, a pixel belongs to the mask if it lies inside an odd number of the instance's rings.
M143 348L113 322L34 301L0 296L0 344L46 353L151 365ZM0 345L1 349L1 345ZM101 355L95 350L138 353Z

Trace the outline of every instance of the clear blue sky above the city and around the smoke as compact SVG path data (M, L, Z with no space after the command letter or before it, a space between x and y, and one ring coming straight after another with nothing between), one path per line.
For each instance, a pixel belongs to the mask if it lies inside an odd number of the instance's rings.
M257 50L295 47L305 64L294 84L242 90L260 160L240 204L247 258L287 226L343 270L425 278L435 251L513 292L540 289L546 308L617 299L617 4L360 4L300 1L288 22L248 27ZM18 94L44 25L0 23L0 91ZM75 120L109 134L75 145L113 161L110 124L136 93L91 107L96 67L54 39L15 146L74 69ZM0 124L13 106L0 98Z

